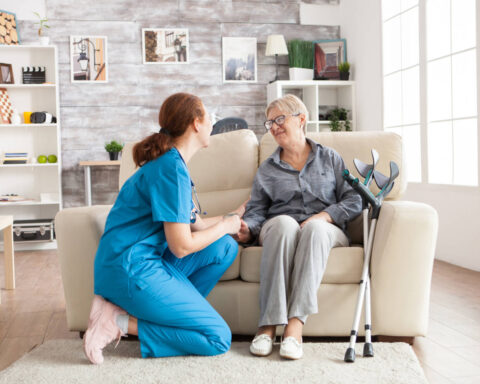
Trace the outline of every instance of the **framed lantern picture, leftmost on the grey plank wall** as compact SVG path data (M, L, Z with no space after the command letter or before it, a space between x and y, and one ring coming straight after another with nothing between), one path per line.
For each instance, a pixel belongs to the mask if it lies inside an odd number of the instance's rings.
M107 36L70 36L72 83L107 83Z

